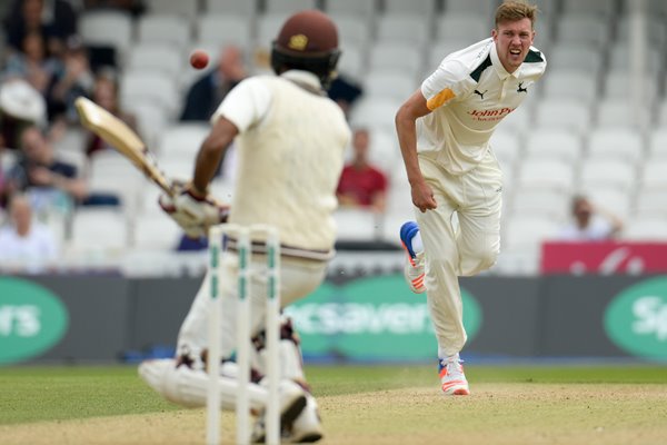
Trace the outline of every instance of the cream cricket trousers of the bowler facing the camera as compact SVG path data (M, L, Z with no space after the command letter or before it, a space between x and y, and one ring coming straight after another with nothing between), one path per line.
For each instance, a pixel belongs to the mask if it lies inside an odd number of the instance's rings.
M502 171L489 150L476 168L455 176L428 154L419 166L438 207L415 214L424 241L428 308L438 340L438 356L459 353L466 344L459 276L490 268L500 251ZM458 230L452 225L458 216Z

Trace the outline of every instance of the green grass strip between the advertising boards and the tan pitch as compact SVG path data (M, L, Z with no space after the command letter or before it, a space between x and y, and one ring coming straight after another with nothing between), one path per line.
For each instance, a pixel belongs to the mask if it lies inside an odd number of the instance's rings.
M316 396L422 387L434 366L308 366ZM667 366L470 366L476 384L656 384L667 390ZM0 368L0 424L64 421L179 409L159 398L135 366ZM667 422L667 419L666 419ZM666 438L667 443L667 438Z

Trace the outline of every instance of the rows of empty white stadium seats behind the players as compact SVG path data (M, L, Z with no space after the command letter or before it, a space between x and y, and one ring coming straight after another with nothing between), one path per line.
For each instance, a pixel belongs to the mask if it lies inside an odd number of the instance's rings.
M268 55L269 42L291 11L316 7L331 13L342 48L339 71L364 87L364 96L350 110L350 125L371 130L371 160L384 168L390 181L385 217L358 211L337 214L341 239L396 243L397 228L412 218L410 189L395 136L396 110L448 53L490 36L492 10L498 3L149 0L148 13L137 19L116 11L87 11L81 16L80 31L89 44L116 48L123 108L137 117L139 132L159 156L162 168L189 178L193 152L208 125L205 122L197 130L177 125L185 88L199 75L187 65L188 53L203 48L215 63L220 48L235 43L249 55L252 72L263 72L267 66L258 60ZM648 2L653 11L646 22L650 46L646 48L647 68L639 83L630 69L627 3L539 3L542 13L535 44L545 51L548 71L535 93L504 119L491 140L505 172L506 190L499 273L537 271L539 243L556 234L568 218L569 199L576 192L588 195L625 219L628 225L624 236L667 238L659 226L660 221L667 226L663 172L667 170L667 3ZM255 51L263 53L260 58L250 57L258 56ZM637 88L644 88L646 103L639 110L633 108ZM169 221L156 205L159 191L136 186L142 179L132 178L125 159L123 167L104 156L96 156L88 164L82 155L83 136L68 132L66 139L56 144L57 150L80 168L89 169L93 190L121 194L126 201L123 215L128 207L141 215L136 221L121 222L125 237L116 240L115 248L130 249L137 264L147 270L150 260L139 258L137 249L157 253L169 248L159 237L151 238L155 234L149 228L167 226L159 219ZM2 168L10 162L9 156L3 155ZM115 188L110 174L123 175L122 178L128 175L131 179L127 184L135 184L139 191ZM233 195L229 177L216 179L211 189L225 200ZM84 220L90 218L82 218L83 222L77 219L72 226L71 244L77 248L80 238L86 237ZM77 233L80 227L83 234ZM167 268L167 261L153 263Z

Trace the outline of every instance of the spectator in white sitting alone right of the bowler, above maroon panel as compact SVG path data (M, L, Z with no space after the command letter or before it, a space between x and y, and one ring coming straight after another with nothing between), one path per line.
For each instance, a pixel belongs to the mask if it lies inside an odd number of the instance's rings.
M623 230L623 221L616 215L594 206L577 195L571 201L573 221L563 228L559 238L565 241L603 241L615 238Z

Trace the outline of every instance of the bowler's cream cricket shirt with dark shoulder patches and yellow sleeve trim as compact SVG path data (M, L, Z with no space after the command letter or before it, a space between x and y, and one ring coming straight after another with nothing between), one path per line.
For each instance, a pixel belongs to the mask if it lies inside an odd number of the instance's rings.
M431 112L417 119L417 151L455 175L472 169L500 120L534 93L532 83L546 66L542 53L531 47L524 63L507 72L492 38L447 56L421 83Z

